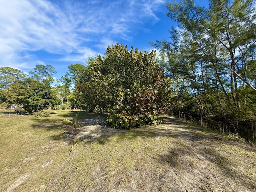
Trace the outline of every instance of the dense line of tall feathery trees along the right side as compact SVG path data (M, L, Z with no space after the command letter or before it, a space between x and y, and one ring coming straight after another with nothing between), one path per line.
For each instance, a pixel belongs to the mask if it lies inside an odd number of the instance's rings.
M170 40L152 43L172 78L172 112L256 139L256 12L254 0L168 3L179 24Z

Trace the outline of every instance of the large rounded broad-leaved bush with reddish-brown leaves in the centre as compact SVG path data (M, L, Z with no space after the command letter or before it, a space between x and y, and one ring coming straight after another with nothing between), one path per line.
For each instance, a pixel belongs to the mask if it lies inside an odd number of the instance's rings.
M133 128L158 123L166 110L170 79L157 65L156 52L127 50L122 44L108 46L88 66L90 78L78 85L88 102L108 111L108 124Z

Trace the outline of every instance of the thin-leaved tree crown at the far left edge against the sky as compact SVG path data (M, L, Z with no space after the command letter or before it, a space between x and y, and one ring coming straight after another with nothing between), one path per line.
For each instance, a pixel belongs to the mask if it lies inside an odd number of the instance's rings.
M11 67L0 67L0 89L4 90L10 84L23 80L26 74Z

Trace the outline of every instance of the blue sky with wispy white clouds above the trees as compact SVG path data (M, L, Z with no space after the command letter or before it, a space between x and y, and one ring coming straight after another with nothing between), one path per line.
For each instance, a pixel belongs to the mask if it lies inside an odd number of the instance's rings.
M58 79L117 42L151 51L149 41L177 26L167 11L166 0L0 0L0 67L28 73L50 64Z

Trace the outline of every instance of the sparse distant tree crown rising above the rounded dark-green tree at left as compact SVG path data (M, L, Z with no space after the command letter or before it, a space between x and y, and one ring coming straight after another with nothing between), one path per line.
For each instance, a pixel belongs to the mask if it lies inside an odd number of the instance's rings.
M39 82L52 82L54 79L52 78L53 74L56 74L56 71L51 65L36 65L34 68L34 72L30 72L32 74L32 78Z

